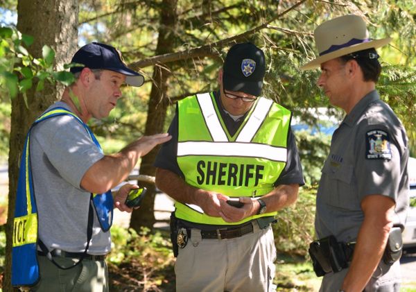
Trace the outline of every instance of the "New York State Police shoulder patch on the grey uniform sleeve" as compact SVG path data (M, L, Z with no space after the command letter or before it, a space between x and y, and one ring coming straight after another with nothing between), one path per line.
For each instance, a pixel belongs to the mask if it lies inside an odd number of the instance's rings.
M388 132L383 130L371 130L365 134L367 151L365 158L367 159L392 159L392 151L390 149L390 136Z

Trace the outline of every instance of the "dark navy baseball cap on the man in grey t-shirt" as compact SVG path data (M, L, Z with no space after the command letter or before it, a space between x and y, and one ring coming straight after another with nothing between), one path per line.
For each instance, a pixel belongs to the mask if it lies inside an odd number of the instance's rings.
M125 75L125 83L139 87L144 83L144 77L129 69L121 59L121 53L113 46L92 42L81 47L71 60L71 63L85 65L89 69L106 69ZM71 73L80 72L84 67L71 67Z

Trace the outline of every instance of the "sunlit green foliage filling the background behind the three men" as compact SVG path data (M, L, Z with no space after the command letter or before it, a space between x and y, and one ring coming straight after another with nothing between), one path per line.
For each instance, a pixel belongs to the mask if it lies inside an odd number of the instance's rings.
M314 28L326 19L354 13L366 19L373 38L393 37L390 46L379 49L383 72L378 89L404 122L412 155L416 156L416 8L413 0L182 0L177 2L177 24L169 28L169 33L174 35L174 49L155 55L162 4L162 0L80 1L80 44L91 41L113 44L121 49L126 62L139 69L148 80L140 89L125 89L124 98L108 119L92 122L101 141L111 142L103 145L105 151L119 150L123 144L146 132L146 119L155 119L146 114L155 68L171 72L168 88L166 92L161 90L160 96L163 96L162 101L173 105L185 96L217 89L218 68L225 52L240 41L254 42L266 53L265 96L291 109L294 118L311 126L323 123L322 117L311 114L311 108L328 108L329 116L342 119L343 112L332 108L315 84L319 71L303 72L299 68L315 58ZM12 7L15 6L7 6ZM8 141L4 134L10 123L10 98L5 93L12 97L17 92L25 92L33 84L33 78L62 79L60 74L48 69L53 63L53 51L45 48L42 59L31 58L25 52L30 37L19 35L14 28L1 28L0 33L0 102L3 103L0 107L0 151L6 153ZM42 85L38 86L42 89ZM165 128L174 112L174 106L168 108ZM298 132L296 136L306 181L315 185L328 152L329 137L312 136L310 132ZM115 141L119 143L117 146L114 146ZM309 200L300 198L297 209L280 212L281 225L277 229L279 234L288 234L285 240L294 244L289 249L298 253L304 250L300 242L312 237L309 224L313 195L307 194L305 198ZM307 222L304 231L291 225L304 222ZM286 232L289 229L293 233Z

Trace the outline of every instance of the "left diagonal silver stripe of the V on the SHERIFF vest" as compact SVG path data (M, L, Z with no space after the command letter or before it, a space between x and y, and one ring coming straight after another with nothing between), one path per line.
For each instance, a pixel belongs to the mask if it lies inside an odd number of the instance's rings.
M209 132L211 132L212 139L218 142L228 141L227 135L225 135L223 127L220 124L220 120L218 120L209 93L197 94L196 97L198 98L198 103L200 104L205 123L207 123L207 128Z

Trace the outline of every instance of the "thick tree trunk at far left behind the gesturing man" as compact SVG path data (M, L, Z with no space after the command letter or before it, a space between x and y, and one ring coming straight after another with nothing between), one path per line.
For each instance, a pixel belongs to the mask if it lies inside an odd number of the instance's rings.
M17 2L17 29L35 38L28 48L34 58L42 57L42 46L55 51L55 69L71 61L78 39L78 0L19 0ZM36 84L27 92L28 108L23 96L12 100L10 152L8 160L9 194L6 225L6 267L3 291L12 291L11 251L12 227L19 162L26 132L41 112L60 98L63 87L45 83L42 92L35 92Z

